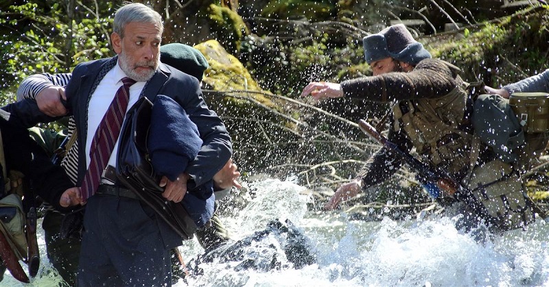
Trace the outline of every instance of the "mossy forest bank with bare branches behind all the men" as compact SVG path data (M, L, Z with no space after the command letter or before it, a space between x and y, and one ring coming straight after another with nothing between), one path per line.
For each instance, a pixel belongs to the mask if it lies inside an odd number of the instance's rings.
M299 94L312 80L371 75L364 36L405 23L434 57L462 68L466 81L494 87L549 68L549 7L541 0L139 2L163 16L163 43L183 42L207 55L204 95L233 136L244 177L292 176L317 195L355 175L375 151L355 122L375 123L386 107L313 103ZM122 3L0 0L2 103L14 101L27 75L67 73L79 62L114 55L110 23ZM406 170L397 178L378 194L417 186Z

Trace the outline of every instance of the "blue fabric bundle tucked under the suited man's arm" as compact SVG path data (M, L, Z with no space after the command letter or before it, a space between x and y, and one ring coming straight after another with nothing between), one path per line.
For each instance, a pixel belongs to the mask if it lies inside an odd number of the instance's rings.
M148 149L158 175L174 181L187 169L202 147L202 139L196 124L174 99L156 95L152 105ZM198 227L202 227L213 215L213 182L195 186L190 180L187 194L181 202Z

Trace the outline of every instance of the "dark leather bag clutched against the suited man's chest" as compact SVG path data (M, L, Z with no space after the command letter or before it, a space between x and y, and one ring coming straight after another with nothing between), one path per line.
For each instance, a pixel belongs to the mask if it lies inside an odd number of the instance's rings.
M120 132L117 153L117 177L119 181L163 219L174 231L188 240L198 228L185 206L168 201L162 196L161 179L152 168L147 148L152 103L141 97L126 114Z

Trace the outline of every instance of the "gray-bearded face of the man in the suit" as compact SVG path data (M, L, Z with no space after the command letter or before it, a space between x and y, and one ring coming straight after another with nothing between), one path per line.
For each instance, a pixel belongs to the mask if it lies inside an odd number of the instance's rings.
M159 67L161 29L150 23L130 22L124 27L124 38L113 33L113 49L120 68L137 82L146 82Z

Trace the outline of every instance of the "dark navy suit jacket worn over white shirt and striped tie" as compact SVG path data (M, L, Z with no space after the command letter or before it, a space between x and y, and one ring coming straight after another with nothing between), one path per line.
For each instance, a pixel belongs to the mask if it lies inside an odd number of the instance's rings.
M100 79L102 68L117 57L95 60L78 64L73 70L71 80L65 88L69 115L75 116L78 132L78 146L86 146L87 112L91 91L95 90ZM113 91L115 92L115 91ZM212 179L224 164L231 158L231 137L226 131L221 119L215 112L209 110L202 98L198 79L187 75L176 68L160 63L159 69L152 79L143 88L142 96L154 101L156 95L166 95L179 103L198 127L200 138L204 144L196 158L187 166L187 173L191 175L197 186ZM46 116L38 110L32 99L12 103L3 108L24 120L27 127L36 123L55 121L58 118ZM86 153L79 153L78 181L82 182L86 173Z

